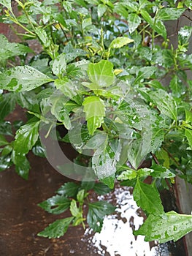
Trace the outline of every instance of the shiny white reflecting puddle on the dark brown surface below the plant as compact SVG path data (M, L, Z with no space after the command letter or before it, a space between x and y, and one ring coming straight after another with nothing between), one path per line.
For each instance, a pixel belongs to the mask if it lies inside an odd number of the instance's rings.
M113 198L112 198L113 197ZM115 192L99 196L99 200L116 201L115 214L104 218L101 233L85 230L82 241L88 244L88 252L95 252L102 256L168 256L167 244L148 243L144 236L135 237L132 228L139 229L144 222L144 214L134 201L131 188L118 187Z

